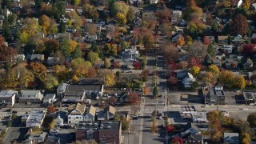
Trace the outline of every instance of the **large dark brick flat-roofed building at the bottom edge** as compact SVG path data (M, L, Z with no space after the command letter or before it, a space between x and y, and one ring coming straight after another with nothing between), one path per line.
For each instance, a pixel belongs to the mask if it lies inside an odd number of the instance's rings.
M76 141L92 140L98 143L122 143L122 123L120 121L79 122L75 134Z

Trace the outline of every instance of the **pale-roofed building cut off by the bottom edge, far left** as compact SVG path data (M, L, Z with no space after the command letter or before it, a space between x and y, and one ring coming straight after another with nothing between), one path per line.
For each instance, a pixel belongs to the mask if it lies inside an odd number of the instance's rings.
M31 130L32 131L32 130ZM33 143L45 143L47 137L46 132L31 132L30 134L26 135L25 143L26 144L33 144Z

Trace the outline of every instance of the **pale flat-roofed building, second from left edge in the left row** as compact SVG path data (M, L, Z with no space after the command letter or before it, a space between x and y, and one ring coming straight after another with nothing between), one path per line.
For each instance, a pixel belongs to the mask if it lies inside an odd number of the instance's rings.
M21 90L19 94L18 102L23 103L40 103L42 102L43 94L40 90Z

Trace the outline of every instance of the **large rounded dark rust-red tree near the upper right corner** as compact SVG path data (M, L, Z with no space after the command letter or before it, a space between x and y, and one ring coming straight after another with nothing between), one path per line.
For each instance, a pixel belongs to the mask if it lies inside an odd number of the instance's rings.
M244 17L242 14L235 15L232 19L231 29L233 34L247 34L249 31L249 25L246 17Z

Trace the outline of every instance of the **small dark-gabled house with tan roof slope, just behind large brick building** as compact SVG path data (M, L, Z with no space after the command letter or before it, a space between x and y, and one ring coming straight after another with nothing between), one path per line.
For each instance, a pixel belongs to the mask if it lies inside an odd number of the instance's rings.
M110 120L114 118L116 110L113 106L106 106L104 110L98 112L98 120Z

